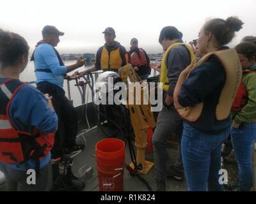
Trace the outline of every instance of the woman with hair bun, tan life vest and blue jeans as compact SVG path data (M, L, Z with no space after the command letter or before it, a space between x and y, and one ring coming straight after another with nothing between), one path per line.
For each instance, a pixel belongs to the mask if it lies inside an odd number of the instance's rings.
M175 87L175 108L184 119L182 158L188 191L223 191L221 144L230 130L229 113L242 76L236 50L225 45L242 25L237 17L206 22L198 36L204 57L182 71Z

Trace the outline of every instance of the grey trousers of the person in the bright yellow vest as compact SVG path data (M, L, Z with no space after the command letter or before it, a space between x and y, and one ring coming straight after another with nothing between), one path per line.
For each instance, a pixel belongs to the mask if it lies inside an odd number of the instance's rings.
M159 180L166 179L166 161L168 160L166 144L172 133L176 133L178 143L180 144L182 136L182 119L174 106L169 108L163 106L163 109L159 112L157 117L157 125L152 138L152 143L154 145L155 175L156 179ZM179 149L176 161L177 166L182 165L180 153Z

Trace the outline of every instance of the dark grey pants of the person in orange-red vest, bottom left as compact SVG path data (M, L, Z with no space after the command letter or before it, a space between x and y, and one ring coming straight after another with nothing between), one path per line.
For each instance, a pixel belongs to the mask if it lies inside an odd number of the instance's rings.
M36 178L36 184L28 185L29 175L26 171L19 171L4 163L0 163L0 170L3 171L6 180L6 191L51 191L52 189L52 166L51 161L42 169L41 176Z

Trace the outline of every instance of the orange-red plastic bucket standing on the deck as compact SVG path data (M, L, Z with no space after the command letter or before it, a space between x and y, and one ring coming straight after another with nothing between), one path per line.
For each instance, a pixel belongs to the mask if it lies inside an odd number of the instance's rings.
M96 164L100 191L122 191L124 183L125 143L116 138L96 144Z

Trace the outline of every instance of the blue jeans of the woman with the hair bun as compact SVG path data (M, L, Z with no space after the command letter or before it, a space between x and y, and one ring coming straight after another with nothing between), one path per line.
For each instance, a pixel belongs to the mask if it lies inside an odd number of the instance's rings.
M221 144L227 140L230 128L221 134L207 135L183 123L181 151L188 191L223 191L219 183Z

